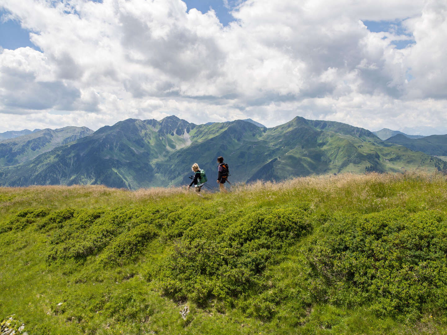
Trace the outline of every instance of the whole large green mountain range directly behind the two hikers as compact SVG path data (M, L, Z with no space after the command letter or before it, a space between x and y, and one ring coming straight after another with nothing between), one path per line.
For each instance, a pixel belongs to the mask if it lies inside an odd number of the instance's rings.
M120 121L13 167L1 167L0 185L104 184L130 189L181 185L189 184L193 163L205 169L212 183L220 155L229 164L232 182L447 169L438 158L340 122L295 117L266 128L243 120L195 125L170 116L160 121Z

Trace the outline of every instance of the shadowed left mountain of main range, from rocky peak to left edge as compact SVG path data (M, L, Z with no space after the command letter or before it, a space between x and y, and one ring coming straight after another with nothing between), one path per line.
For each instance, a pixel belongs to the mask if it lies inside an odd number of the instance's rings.
M139 188L156 184L157 160L190 144L194 128L176 117L128 119L52 151L19 167L3 169L8 185L105 184ZM3 173L3 175L2 175ZM160 184L160 183L158 183Z

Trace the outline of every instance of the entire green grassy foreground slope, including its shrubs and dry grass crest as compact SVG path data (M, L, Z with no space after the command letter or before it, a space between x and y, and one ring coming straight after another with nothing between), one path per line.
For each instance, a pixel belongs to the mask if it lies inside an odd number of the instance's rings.
M0 188L2 329L447 334L443 174L345 173L201 193Z

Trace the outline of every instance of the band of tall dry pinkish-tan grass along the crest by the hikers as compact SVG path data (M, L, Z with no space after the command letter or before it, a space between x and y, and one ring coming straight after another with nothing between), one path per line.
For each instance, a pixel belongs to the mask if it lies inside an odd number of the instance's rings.
M439 172L412 170L405 173L341 173L298 177L280 182L258 180L233 183L230 193L211 193L203 189L209 205L233 208L240 205L259 207L308 201L325 210L372 212L400 206L406 209L437 208L447 203L446 176ZM186 188L140 188L136 191L102 185L30 186L0 188L0 214L7 209L34 206L115 207L145 203L185 203L201 201ZM0 199L1 200L1 199ZM214 204L213 204L214 203Z

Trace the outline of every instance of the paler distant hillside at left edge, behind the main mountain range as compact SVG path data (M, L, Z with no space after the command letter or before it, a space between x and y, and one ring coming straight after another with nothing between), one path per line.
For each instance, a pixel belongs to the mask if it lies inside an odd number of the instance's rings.
M28 162L55 147L88 136L93 130L87 127L64 127L34 130L30 134L0 141L0 167Z

